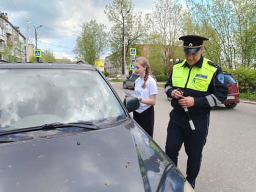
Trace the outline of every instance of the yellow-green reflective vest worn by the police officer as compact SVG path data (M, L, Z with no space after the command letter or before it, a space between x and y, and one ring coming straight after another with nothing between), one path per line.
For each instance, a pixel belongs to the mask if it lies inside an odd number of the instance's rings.
M203 60L202 67L183 66L186 60L177 63L172 68L172 87L190 88L196 91L207 91L211 83L216 66L208 64L208 59Z

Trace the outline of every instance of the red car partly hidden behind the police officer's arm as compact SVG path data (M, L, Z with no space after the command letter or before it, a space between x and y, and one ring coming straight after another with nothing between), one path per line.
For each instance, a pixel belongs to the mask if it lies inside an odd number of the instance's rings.
M238 82L231 73L223 72L223 74L224 74L226 85L229 88L227 99L226 101L223 102L223 104L227 108L234 108L239 103Z

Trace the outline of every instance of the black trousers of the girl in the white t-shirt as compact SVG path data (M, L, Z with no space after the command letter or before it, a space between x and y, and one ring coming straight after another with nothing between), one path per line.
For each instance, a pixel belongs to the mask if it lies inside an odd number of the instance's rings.
M149 107L142 113L133 112L133 119L153 138L155 112L154 106Z

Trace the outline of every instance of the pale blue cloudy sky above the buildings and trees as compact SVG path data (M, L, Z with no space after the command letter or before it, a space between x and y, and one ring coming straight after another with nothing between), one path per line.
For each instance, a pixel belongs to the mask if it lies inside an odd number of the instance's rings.
M110 23L104 13L110 0L1 0L0 12L9 15L13 26L20 27L21 34L35 45L37 29L38 49L48 49L56 59L74 60L73 49L76 39L82 32L82 23L96 20L105 24L107 31ZM154 9L154 0L132 0L134 12L149 13ZM27 33L26 33L27 21ZM42 27L39 27L41 26ZM38 27L38 28L37 28ZM109 53L105 52L100 59Z

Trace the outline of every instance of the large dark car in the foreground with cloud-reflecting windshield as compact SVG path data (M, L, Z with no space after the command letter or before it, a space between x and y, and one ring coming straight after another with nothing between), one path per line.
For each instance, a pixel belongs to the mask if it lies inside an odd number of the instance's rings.
M91 65L0 63L0 191L193 191Z

